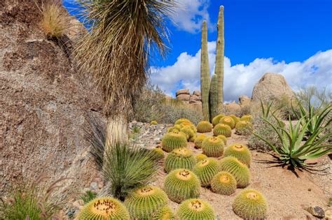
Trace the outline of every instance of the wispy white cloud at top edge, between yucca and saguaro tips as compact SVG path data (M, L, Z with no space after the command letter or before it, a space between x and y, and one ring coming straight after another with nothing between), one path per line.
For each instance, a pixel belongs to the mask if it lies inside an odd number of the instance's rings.
M172 21L176 24L177 29L198 33L203 20L207 20L208 28L213 29L207 12L209 0L180 0L177 3L179 6L172 16Z

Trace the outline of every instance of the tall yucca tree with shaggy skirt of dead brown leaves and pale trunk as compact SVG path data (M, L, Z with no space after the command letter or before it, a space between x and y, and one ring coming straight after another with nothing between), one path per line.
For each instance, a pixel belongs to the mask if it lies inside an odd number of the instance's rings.
M127 141L127 118L144 87L148 64L167 49L165 16L173 1L80 0L89 31L76 47L81 71L92 73L102 91L110 146Z

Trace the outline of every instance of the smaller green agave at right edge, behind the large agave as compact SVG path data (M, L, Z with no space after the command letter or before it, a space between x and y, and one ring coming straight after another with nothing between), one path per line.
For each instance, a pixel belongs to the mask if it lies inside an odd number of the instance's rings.
M323 109L321 109L321 105L318 108L314 108L314 106L311 105L310 101L308 101L307 109L303 107L302 103L299 103L298 107L300 110L300 114L298 114L296 110L294 110L293 106L292 110L296 117L298 117L298 119L303 119L301 120L302 126L308 123L307 131L305 131L306 137L310 137L314 133L314 131L320 128L324 129L326 128L326 126L328 126L328 124L331 123L331 118L327 120L326 118L332 110L332 105L327 105Z

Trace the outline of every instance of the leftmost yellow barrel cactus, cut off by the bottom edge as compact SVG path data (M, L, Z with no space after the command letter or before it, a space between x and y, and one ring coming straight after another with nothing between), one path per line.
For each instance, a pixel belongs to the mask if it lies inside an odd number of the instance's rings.
M130 215L127 208L116 198L95 198L85 204L78 212L79 220L85 219L124 219L129 220Z

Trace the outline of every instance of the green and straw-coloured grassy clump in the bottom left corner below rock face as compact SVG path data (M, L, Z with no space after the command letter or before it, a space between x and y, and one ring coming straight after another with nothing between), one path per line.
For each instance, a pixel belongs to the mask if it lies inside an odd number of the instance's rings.
M22 182L8 198L0 200L0 219L50 219L57 217L56 212L60 205L64 205L62 200L51 197L58 183L64 178L46 186L45 177L39 177L34 182ZM52 200L52 201L51 201Z

